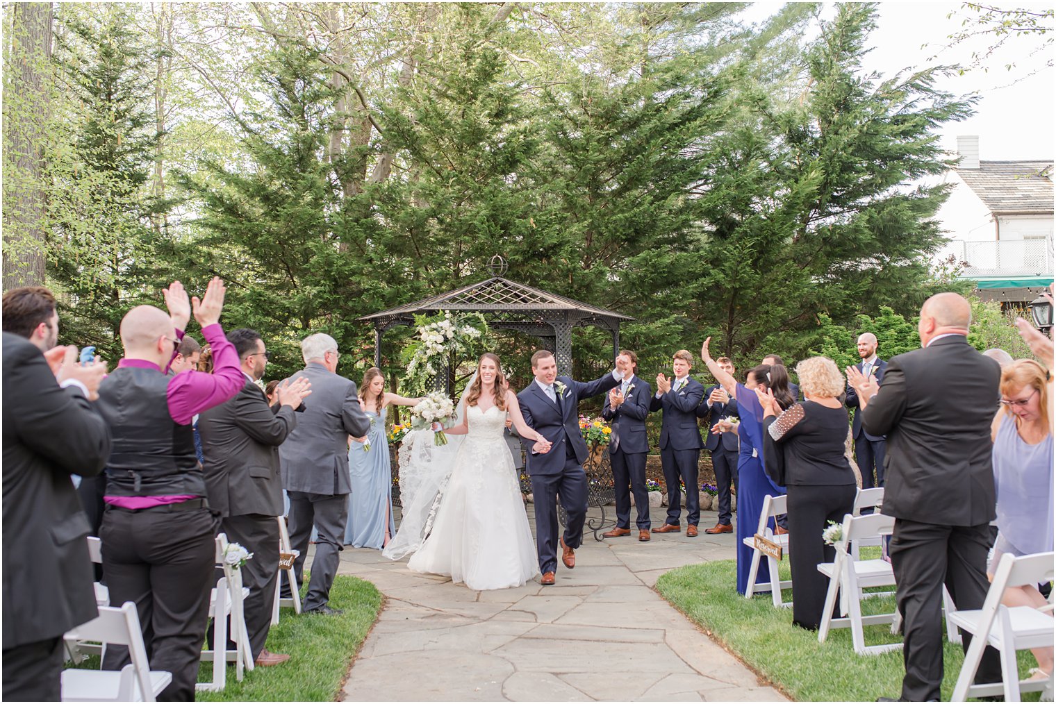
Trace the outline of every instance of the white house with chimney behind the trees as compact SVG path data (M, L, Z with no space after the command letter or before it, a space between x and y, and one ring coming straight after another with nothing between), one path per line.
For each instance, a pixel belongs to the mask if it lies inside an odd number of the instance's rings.
M941 255L984 300L1029 303L1053 281L1053 161L981 161L978 136L958 137L957 151L938 213L950 237Z

